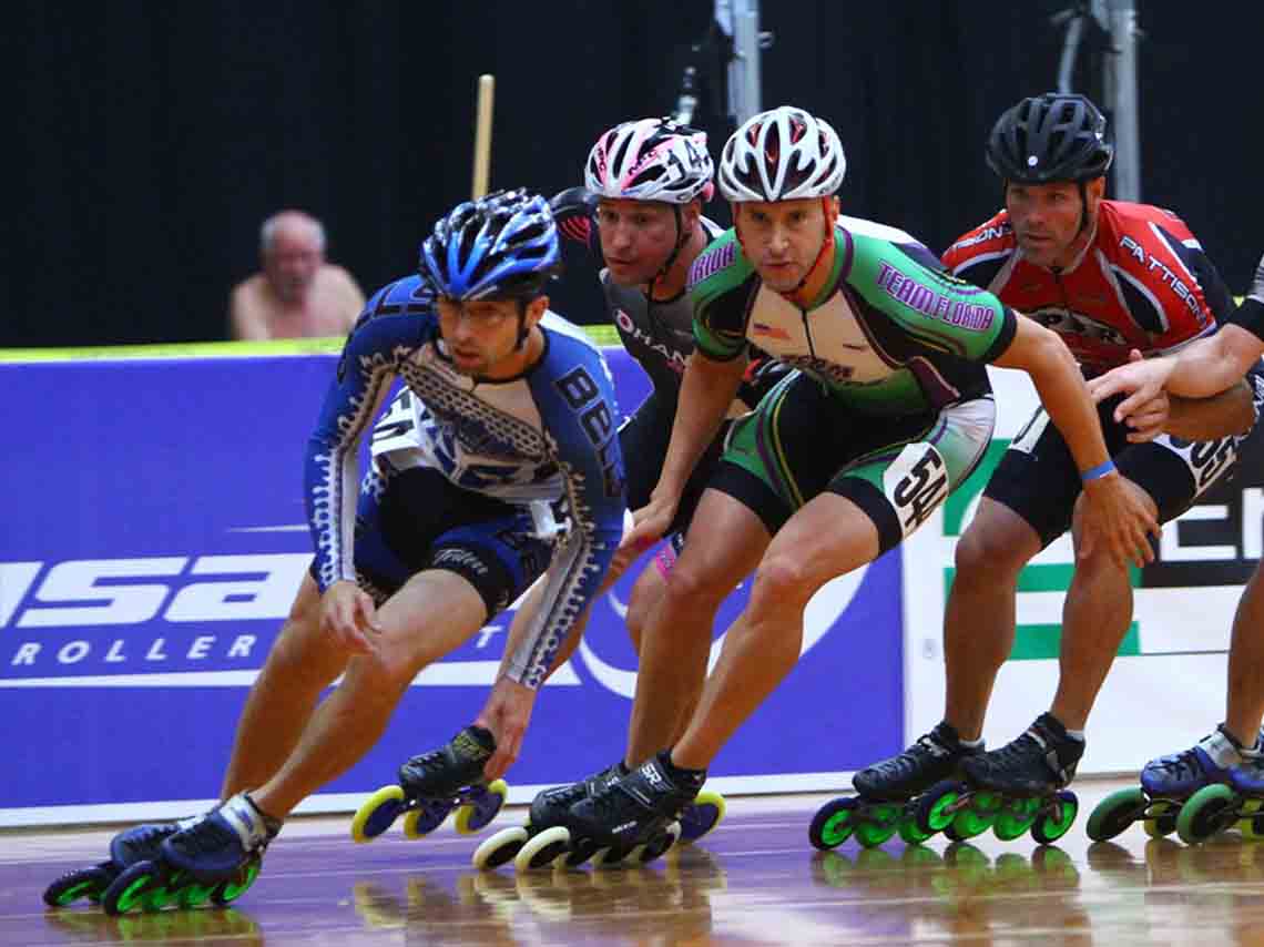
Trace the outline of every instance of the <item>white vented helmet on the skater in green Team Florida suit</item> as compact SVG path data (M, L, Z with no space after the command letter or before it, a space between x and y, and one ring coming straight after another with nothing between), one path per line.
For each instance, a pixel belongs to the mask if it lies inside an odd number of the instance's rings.
M747 119L724 144L719 191L733 202L829 197L847 172L838 133L782 105Z

